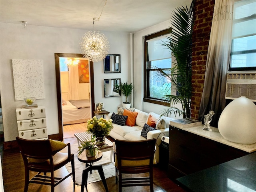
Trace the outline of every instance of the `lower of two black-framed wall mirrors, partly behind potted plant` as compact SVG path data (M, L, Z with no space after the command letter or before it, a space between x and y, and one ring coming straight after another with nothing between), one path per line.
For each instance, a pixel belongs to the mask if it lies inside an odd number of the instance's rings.
M121 79L104 79L104 97L121 96Z

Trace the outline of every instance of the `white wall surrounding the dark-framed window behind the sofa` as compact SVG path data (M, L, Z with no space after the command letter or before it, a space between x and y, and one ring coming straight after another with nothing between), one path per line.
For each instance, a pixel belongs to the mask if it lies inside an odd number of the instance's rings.
M134 34L134 107L145 111L161 114L165 106L143 102L144 97L144 36L169 28L170 21L146 28ZM180 106L177 106L180 108ZM171 116L172 118L180 118Z

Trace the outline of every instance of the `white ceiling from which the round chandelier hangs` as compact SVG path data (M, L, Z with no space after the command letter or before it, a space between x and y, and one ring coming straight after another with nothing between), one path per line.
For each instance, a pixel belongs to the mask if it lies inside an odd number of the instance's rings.
M192 0L0 0L0 22L137 32L170 20L172 10ZM103 10L103 12L102 12ZM101 14L102 12L102 14Z

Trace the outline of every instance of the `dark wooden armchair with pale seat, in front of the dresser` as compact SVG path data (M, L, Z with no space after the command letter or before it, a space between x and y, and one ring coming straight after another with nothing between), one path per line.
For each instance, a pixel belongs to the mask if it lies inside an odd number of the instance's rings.
M16 140L25 165L24 192L28 191L29 183L50 185L51 192L54 192L54 187L70 175L73 176L75 187L74 154L71 154L70 143L62 143L64 147L61 148L68 146L68 153L62 153L59 152L61 149L52 151L51 143L53 140L26 140L19 137L16 137ZM71 162L72 172L64 178L54 177L54 171L66 165L68 162ZM38 173L29 180L29 171ZM47 172L50 172L50 176L46 175Z

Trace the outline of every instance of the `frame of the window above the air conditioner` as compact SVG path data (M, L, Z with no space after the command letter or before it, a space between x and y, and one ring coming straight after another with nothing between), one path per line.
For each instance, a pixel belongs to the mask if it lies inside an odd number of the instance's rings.
M242 6L244 5L245 3L244 2L236 2L239 6ZM239 6L234 6L234 12L235 12L235 8L236 7L239 7ZM233 24L234 23L239 23L239 22L244 22L244 21L248 21L248 20L252 20L252 19L255 19L256 18L256 14L253 14L251 16L247 16L247 17L244 17L244 18L239 18L239 19L234 19L233 17ZM239 54L247 54L247 53L256 53L256 50L243 50L243 51L232 51L233 49L233 41L234 39L238 39L238 38L243 38L243 37L249 37L249 36L254 36L256 35L256 32L254 34L249 34L249 35L244 35L244 36L238 36L238 37L231 37L232 39L232 42L231 42L231 51L230 51L230 63L229 63L229 66L228 66L228 71L252 71L252 70L256 70L256 66L255 67L231 67L231 57L232 55L239 55Z

